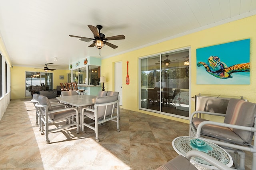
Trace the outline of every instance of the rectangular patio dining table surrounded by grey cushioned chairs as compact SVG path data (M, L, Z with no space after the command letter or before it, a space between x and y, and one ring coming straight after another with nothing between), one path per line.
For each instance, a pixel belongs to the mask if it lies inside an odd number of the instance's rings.
M73 96L60 96L56 97L60 102L70 104L75 107L80 107L80 128L82 129L82 108L92 106L96 102L97 96L92 95L73 95Z

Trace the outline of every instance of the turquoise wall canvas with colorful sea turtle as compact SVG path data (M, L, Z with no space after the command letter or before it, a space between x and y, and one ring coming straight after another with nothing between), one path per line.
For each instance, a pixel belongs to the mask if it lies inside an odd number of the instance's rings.
M250 39L196 49L196 84L250 84Z

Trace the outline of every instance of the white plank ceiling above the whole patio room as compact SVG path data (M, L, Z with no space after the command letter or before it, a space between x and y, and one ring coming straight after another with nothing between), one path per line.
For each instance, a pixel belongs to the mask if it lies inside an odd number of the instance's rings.
M0 37L14 66L68 69L86 57L111 57L256 14L256 0L0 0ZM88 47L102 25L117 49ZM54 61L54 57L58 61Z

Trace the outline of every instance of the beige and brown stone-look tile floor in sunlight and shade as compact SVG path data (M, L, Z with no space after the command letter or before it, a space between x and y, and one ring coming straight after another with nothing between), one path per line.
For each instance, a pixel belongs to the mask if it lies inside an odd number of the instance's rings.
M178 154L172 140L188 136L189 125L120 109L116 123L76 134L75 128L50 133L46 145L28 99L11 100L0 122L0 169L13 170L154 170ZM60 124L55 124L58 126ZM251 164L247 161L246 164Z

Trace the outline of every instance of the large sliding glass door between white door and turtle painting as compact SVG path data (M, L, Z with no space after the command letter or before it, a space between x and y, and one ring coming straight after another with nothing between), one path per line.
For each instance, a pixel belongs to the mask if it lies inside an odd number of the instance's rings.
M140 59L140 109L189 117L189 49Z

